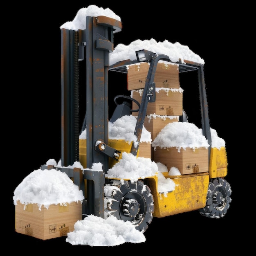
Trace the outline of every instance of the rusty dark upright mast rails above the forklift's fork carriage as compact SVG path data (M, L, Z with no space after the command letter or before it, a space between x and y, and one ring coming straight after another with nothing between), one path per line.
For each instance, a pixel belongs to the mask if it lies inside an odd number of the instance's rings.
M61 29L61 162L62 166L79 161L79 61L86 58L86 131L87 166L101 162L108 166L108 150L94 150L97 141L108 149L108 67L113 52L113 34L121 22L106 16L86 17L86 29ZM83 71L83 70L82 70ZM102 144L101 144L102 146ZM101 152L103 151L103 152Z

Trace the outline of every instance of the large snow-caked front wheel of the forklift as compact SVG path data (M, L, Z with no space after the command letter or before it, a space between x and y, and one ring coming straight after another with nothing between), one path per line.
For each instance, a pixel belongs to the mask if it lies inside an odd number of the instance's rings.
M154 199L143 181L112 180L104 187L104 217L115 216L130 221L135 228L145 232L154 212Z

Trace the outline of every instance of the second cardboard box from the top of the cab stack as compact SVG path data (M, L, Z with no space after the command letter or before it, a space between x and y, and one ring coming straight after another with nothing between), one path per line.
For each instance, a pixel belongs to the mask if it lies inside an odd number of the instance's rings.
M182 115L182 97L183 89L173 88L156 88L155 102L148 102L146 115L167 115L167 116L181 116ZM141 103L143 89L132 90L131 97ZM138 106L132 102L132 109L137 109ZM132 112L132 115L138 115L138 112Z

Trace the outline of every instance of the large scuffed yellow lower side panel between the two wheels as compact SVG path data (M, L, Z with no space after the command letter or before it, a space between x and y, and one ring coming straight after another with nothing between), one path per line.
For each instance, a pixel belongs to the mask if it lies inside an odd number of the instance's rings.
M163 173L166 178L175 182L175 189L167 193L157 191L157 177L148 180L148 185L154 198L155 211L153 216L166 217L177 213L193 211L205 207L207 191L209 186L209 173L194 173L179 176L169 176Z

